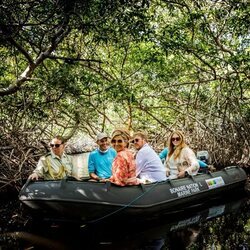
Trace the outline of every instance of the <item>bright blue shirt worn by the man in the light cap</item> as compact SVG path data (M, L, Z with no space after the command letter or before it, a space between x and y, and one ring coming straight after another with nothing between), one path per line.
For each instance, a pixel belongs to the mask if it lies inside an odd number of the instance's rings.
M95 173L99 178L109 178L112 175L112 163L116 156L116 151L109 148L102 152L99 149L89 154L88 170L89 173Z

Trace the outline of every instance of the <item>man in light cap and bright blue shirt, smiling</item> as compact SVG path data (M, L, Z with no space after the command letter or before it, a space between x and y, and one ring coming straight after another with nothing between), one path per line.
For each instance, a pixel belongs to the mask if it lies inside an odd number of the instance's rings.
M112 175L116 151L110 147L110 138L106 133L97 134L96 143L98 148L89 154L89 176L92 180L105 181Z

